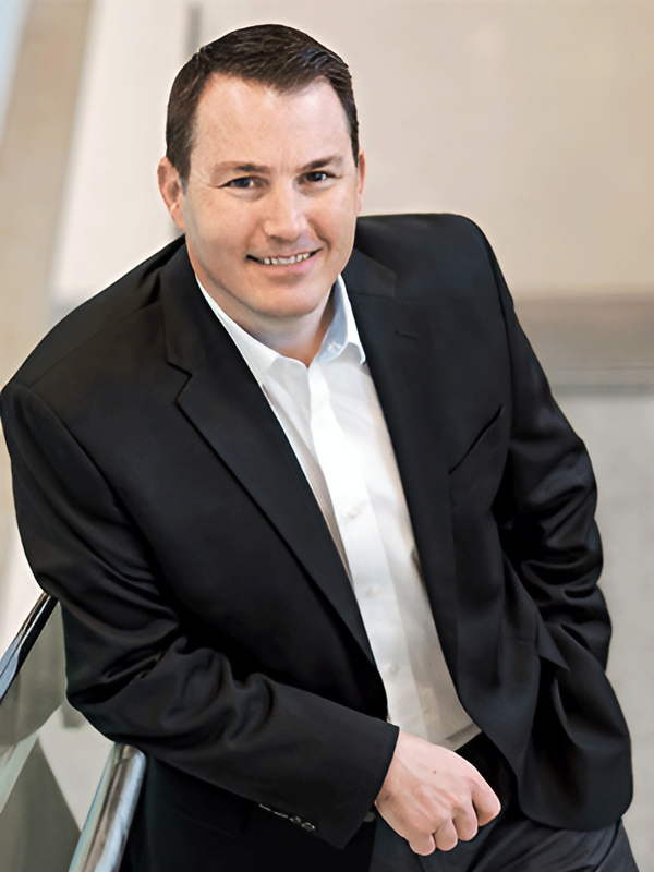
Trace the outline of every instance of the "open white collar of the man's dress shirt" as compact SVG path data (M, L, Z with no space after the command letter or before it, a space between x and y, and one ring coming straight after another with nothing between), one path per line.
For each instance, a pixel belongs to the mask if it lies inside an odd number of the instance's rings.
M211 312L214 312L218 320L230 335L258 384L263 385L268 371L276 361L291 359L284 358L282 354L279 354L279 352L274 351L246 332L233 318L230 318L230 316L223 312L213 296L209 296L197 276L196 280ZM332 293L334 317L331 318L331 324L325 334L323 344L315 360L320 363L327 363L338 358L351 346L356 353L359 364L363 364L365 363L365 351L361 344L356 322L354 320L354 313L352 312L352 305L342 276L337 278Z

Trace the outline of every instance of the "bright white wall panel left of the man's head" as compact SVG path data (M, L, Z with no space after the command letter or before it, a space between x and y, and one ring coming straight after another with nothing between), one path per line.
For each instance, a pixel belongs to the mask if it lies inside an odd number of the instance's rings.
M156 167L185 25L180 0L96 0L52 275L56 308L101 290L171 239Z

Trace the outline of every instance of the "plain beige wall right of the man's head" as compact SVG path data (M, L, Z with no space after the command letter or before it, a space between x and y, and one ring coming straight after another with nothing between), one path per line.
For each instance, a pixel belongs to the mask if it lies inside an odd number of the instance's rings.
M230 7L205 38L278 20L350 61L368 211L469 215L519 295L654 288L653 2Z

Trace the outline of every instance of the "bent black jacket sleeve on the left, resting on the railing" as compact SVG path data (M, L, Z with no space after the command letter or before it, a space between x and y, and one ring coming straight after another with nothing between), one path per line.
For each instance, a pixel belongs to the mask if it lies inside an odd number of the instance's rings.
M71 702L110 739L343 847L397 728L262 674L235 680L186 635L147 542L44 399L13 382L1 410L25 552L62 605Z

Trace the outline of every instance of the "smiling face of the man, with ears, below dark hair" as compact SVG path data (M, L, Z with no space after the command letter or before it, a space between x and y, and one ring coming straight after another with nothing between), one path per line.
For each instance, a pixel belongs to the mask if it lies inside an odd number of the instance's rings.
M302 90L216 75L199 100L185 192L161 192L203 286L245 329L324 310L361 206L348 122L331 86Z

